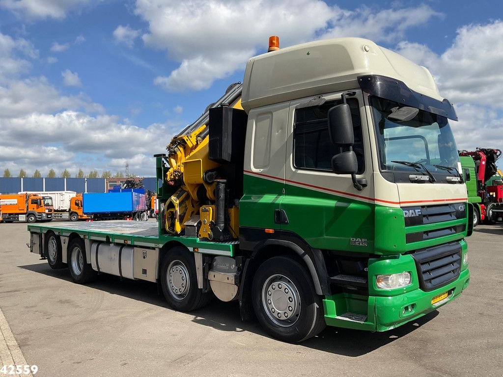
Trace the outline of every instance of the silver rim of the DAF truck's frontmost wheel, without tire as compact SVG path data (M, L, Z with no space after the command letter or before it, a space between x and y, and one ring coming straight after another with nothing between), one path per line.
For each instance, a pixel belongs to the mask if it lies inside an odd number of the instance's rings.
M269 319L278 326L290 327L299 319L299 291L292 280L284 275L272 275L264 282L262 304Z

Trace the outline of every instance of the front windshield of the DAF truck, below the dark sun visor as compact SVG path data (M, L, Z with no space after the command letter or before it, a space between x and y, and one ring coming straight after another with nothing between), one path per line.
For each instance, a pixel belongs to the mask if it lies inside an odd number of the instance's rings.
M432 173L443 175L452 174L443 167L458 167L458 150L447 118L419 111L409 121L398 121L387 117L403 105L372 97L371 106L381 170L417 171L417 167L393 161L423 164Z

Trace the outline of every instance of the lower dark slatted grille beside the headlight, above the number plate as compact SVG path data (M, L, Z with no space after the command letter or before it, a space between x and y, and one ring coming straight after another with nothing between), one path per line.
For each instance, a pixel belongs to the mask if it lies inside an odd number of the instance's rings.
M461 271L461 245L450 242L411 253L425 292L433 291L456 280Z

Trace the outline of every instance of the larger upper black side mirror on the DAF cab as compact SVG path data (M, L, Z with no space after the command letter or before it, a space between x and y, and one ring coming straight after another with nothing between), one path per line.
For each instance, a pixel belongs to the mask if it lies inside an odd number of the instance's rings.
M355 143L353 120L348 104L336 105L328 110L328 135L332 144L340 147Z

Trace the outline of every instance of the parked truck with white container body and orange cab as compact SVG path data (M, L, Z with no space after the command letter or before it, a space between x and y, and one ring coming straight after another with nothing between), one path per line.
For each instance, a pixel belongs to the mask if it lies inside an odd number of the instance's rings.
M74 191L46 191L20 192L19 194L38 194L52 199L54 212L52 218L56 220L86 220L89 216L82 213L82 194Z

